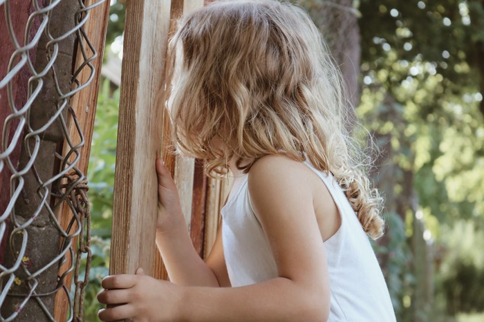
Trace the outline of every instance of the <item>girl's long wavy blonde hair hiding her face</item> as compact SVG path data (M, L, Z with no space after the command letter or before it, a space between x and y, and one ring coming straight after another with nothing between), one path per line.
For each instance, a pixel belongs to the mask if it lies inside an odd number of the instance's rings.
M234 156L248 172L263 155L329 171L364 231L382 235L342 75L310 17L279 1L220 1L180 21L169 44L167 108L176 149L206 160L210 176ZM242 166L243 161L252 160Z

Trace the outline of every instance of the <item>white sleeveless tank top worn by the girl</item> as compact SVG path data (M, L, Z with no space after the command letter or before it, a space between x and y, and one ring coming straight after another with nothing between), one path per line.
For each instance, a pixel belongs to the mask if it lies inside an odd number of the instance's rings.
M328 322L392 322L395 313L382 270L355 211L331 173L315 169L341 216L341 226L324 242L331 308ZM248 176L221 210L223 252L232 287L278 277L270 245L249 200Z

